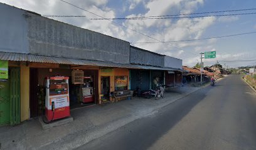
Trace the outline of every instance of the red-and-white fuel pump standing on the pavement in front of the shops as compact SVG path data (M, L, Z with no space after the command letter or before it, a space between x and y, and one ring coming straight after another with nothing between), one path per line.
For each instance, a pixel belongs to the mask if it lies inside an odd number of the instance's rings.
M68 77L46 78L45 116L48 121L70 116Z

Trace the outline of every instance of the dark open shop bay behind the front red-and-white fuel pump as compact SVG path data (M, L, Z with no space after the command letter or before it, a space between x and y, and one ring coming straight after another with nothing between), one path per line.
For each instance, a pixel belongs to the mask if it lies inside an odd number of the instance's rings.
M40 116L45 108L45 79L51 76L68 77L70 109L90 104L97 104L99 99L99 67L86 66L79 68L67 64L30 63L30 117ZM79 83L74 82L73 72L83 74Z

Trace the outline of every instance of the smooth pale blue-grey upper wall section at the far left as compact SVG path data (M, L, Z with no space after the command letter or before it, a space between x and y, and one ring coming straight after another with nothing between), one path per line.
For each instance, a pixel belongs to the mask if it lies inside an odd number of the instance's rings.
M23 10L0 3L0 51L28 53L28 24Z

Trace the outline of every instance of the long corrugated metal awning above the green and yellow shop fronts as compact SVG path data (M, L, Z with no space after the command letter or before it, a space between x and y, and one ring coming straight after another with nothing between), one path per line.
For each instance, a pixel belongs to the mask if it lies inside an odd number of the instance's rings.
M0 60L6 61L28 61L35 63L74 64L82 66L100 66L110 68L141 69L132 64L119 64L109 61L89 61L84 59L60 58L55 56L42 56L37 54L21 54L0 52Z

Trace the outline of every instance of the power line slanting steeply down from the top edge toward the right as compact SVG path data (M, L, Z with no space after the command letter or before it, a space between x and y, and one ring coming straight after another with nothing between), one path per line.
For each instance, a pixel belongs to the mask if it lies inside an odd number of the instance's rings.
M95 16L101 17L101 18L103 18L103 19L105 19L105 20L107 20L107 21L113 22L114 24L117 24L117 25L119 25L119 26L125 27L126 29L129 29L129 30L131 30L131 31L137 32L137 33L141 34L142 36L149 37L149 38L151 38L151 39L156 40L157 42L162 42L162 41L160 41L159 39L156 39L156 38L154 38L154 37L148 36L147 34L144 34L144 33L142 33L142 32L136 31L135 29L132 29L132 28L127 27L127 26L124 26L124 25L122 25L122 24L119 24L119 23L117 23L117 22L115 22L115 21L112 21L112 20L107 19L107 18L105 18L105 17L103 17L103 16L100 16L99 14L95 14L94 12L87 11L86 9L80 8L80 7L74 5L74 4L70 3L70 2L63 1L63 0L60 0L60 1L65 2L66 4L70 4L71 6L74 6L75 8L78 8L78 9L81 9L81 10L83 10L83 11L89 12L90 14L94 14ZM170 46L173 46L173 45L171 45L171 44L169 44L169 45L170 45ZM173 46L173 47L176 47L176 46ZM181 49L181 48L179 48L179 47L176 47L176 48L177 48L177 49L180 49L180 50L183 50L183 49ZM183 51L184 51L184 50L183 50ZM190 52L189 52L189 53L190 53Z

